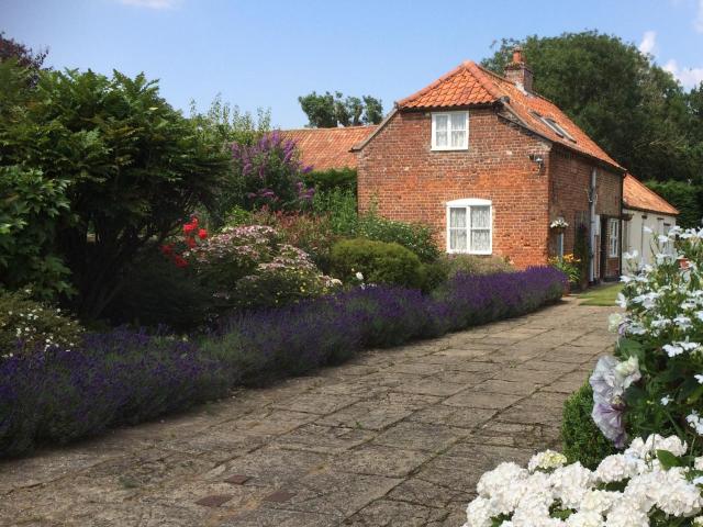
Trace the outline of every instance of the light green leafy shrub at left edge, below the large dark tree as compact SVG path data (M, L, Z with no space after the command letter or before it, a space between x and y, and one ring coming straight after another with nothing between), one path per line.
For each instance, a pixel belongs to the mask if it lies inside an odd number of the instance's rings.
M0 284L31 287L51 299L70 293L69 271L55 253L54 237L69 211L68 180L49 179L41 170L0 167Z

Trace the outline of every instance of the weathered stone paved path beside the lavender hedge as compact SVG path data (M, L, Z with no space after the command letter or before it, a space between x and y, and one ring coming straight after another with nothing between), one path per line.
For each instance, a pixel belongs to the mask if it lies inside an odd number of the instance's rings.
M482 472L559 446L611 311L570 299L1 462L0 525L459 527Z

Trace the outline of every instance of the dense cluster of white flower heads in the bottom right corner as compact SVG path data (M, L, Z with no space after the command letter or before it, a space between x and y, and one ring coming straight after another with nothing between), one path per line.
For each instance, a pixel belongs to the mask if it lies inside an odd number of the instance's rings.
M478 482L465 527L698 526L703 458L677 436L636 438L593 471L547 450L527 469L504 462Z

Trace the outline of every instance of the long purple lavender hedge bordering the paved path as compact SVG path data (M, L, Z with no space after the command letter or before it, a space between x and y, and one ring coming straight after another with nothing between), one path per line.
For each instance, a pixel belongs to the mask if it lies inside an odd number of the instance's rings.
M0 363L0 457L180 411L364 348L528 313L565 287L566 277L548 267L458 274L434 295L369 287L244 314L198 343L116 329L87 336L80 349L8 359Z

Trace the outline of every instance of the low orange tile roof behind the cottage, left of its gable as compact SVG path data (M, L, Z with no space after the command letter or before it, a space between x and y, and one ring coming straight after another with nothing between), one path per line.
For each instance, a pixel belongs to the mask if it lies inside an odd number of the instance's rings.
M378 126L346 126L342 128L283 130L281 135L292 139L303 165L314 170L356 168L354 145L368 137Z

